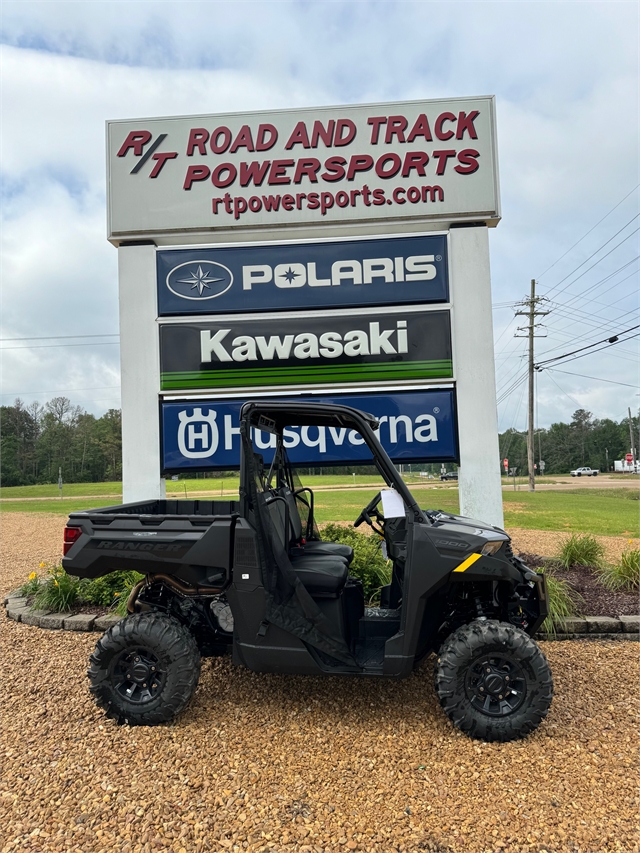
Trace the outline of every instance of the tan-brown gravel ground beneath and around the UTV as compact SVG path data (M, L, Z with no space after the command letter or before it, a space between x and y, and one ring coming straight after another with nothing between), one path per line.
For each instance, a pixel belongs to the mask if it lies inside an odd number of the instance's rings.
M4 516L5 591L62 525ZM2 628L2 851L638 850L637 643L544 643L549 717L484 744L440 712L432 661L390 682L207 660L174 725L118 727L86 689L97 635Z

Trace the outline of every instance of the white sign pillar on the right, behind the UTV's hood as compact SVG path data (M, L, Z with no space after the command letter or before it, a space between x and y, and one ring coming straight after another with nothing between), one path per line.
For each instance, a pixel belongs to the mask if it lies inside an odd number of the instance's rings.
M489 235L484 226L452 228L449 245L460 513L503 527Z

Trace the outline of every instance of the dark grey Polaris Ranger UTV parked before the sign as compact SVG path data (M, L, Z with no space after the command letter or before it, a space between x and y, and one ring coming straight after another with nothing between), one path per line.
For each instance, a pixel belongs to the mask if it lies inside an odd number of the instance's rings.
M391 562L379 607L349 575L350 547L320 539L314 499L288 462L301 426L360 434L387 488L354 525L370 525ZM288 429L287 429L288 428ZM241 411L239 501L159 500L72 513L62 564L95 578L145 575L127 616L98 641L88 672L106 714L129 725L171 719L200 659L230 649L254 672L404 678L438 653L435 689L454 725L506 741L546 716L553 682L531 639L544 577L497 527L423 510L378 442L372 415L346 406L249 402ZM266 431L273 458L255 452ZM344 433L343 433L344 434Z

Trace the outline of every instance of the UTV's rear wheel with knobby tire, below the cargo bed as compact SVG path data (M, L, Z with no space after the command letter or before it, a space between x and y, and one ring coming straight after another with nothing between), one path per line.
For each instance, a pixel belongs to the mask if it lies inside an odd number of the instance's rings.
M90 658L90 691L108 717L152 726L179 714L200 677L200 652L176 619L137 613L103 634Z

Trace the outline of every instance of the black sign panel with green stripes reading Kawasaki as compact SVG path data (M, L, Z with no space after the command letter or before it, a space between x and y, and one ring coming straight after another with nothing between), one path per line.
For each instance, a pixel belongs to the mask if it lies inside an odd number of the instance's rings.
M162 391L451 380L448 310L331 312L160 327Z

